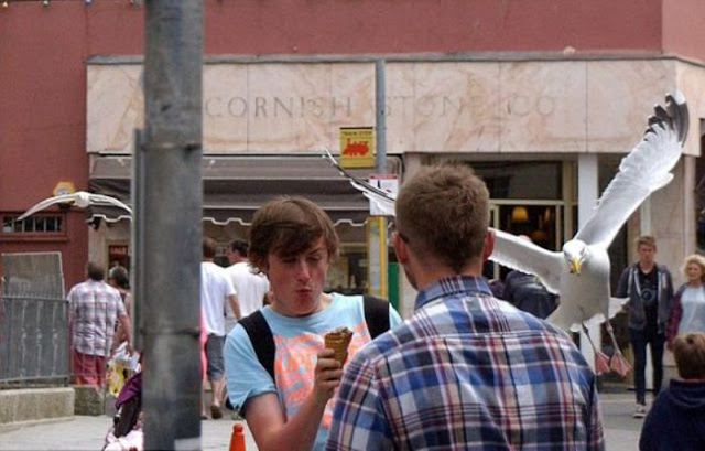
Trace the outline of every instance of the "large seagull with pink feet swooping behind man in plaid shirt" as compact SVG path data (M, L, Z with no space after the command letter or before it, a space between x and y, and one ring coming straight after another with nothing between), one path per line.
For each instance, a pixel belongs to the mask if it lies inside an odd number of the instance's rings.
M668 95L665 99L665 108L654 107L654 115L648 120L643 138L622 159L619 172L597 202L590 218L573 239L563 245L561 251L550 251L518 236L494 229L496 240L490 259L538 276L549 291L561 297L558 308L547 318L550 322L570 331L607 322L606 329L615 346L611 369L622 376L630 366L619 351L609 319L621 310L627 299L610 297L607 248L639 205L673 179L671 170L681 157L687 135L688 110L680 92ZM392 195L352 178L329 152L327 158L386 214L394 214ZM595 348L595 356L598 374L610 368L605 354Z

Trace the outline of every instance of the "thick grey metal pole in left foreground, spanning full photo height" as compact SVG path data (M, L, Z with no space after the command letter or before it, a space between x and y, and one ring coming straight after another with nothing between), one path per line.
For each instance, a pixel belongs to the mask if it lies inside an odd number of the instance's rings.
M144 241L137 264L144 343L145 449L200 448L199 292L203 2L148 0L144 21Z

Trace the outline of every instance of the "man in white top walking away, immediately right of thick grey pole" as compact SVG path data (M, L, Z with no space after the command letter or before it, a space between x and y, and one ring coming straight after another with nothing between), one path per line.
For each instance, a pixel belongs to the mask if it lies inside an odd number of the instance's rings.
M216 257L216 241L213 238L203 239L203 261L200 264L200 310L203 327L208 339L206 341L206 375L213 389L210 415L217 419L223 417L220 401L225 388L225 364L223 346L225 344L226 304L230 307L236 320L240 319L240 307L232 282L225 271L214 262ZM205 399L205 396L202 396ZM202 418L206 417L205 406Z

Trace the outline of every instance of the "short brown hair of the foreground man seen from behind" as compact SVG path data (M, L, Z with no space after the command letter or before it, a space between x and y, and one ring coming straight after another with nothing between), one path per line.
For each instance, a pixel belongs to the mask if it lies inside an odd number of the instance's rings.
M458 273L481 258L489 192L467 164L421 168L403 183L395 210L397 229L416 255L431 255Z

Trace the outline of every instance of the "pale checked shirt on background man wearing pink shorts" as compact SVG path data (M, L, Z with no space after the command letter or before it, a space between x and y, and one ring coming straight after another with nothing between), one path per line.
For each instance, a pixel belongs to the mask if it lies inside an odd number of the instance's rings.
M126 314L120 292L102 281L86 280L68 292L73 347L83 354L110 354L118 316Z

